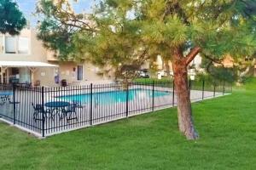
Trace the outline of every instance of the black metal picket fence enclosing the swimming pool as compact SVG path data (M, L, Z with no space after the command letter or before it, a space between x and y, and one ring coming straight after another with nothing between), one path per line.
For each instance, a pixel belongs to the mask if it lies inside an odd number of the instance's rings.
M133 82L129 85L89 84L58 88L0 85L0 117L38 136L177 105L173 82ZM230 94L226 82L189 81L190 99L200 101Z

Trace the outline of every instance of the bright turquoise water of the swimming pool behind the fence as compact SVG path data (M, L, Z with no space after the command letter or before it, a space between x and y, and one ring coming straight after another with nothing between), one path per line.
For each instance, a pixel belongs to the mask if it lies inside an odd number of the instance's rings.
M170 92L154 90L154 98L171 95ZM129 90L128 100L134 99L150 99L153 97L152 90L149 89L131 89ZM75 94L58 97L61 100L69 102L78 101L80 103L89 103L90 94ZM125 102L127 98L126 91L111 91L111 92L99 92L92 94L93 102L100 104L115 104L119 102Z

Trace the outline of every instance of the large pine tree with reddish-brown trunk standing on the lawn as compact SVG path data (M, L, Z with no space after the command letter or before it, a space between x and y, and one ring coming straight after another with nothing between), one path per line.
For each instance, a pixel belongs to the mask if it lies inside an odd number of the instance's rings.
M142 65L157 54L172 61L178 127L187 139L198 138L189 99L189 63L199 53L211 59L225 54L236 58L253 54L256 47L255 14L248 13L254 2L249 0L102 0L90 15L75 14L65 0L57 2L38 4L38 13L44 15L39 37L60 54L68 48L67 58L111 65L115 71ZM65 36L68 41L56 45Z

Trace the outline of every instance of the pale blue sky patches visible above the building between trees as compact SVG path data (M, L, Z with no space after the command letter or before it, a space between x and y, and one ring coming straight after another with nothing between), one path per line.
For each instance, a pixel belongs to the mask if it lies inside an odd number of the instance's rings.
M15 0L20 10L25 14L26 20L29 20L31 26L36 26L37 18L32 14L35 12L36 3L38 0ZM78 3L70 0L73 4L73 8L76 12L90 12L90 7L94 4L95 0L78 0Z

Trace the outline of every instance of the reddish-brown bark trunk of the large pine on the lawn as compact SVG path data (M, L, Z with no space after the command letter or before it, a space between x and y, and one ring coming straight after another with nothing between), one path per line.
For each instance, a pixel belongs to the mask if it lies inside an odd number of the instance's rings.
M197 139L199 136L195 132L189 96L187 60L183 57L181 48L177 48L174 51L172 60L175 93L177 96L178 127L187 139Z

